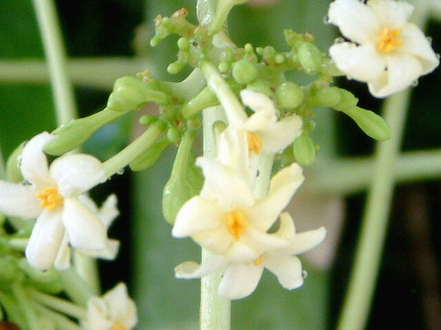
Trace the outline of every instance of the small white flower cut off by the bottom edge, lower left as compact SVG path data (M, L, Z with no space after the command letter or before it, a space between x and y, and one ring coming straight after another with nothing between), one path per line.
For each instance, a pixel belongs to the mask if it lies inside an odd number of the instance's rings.
M127 287L119 283L102 298L92 297L88 301L88 330L130 330L138 321L136 305L127 295Z

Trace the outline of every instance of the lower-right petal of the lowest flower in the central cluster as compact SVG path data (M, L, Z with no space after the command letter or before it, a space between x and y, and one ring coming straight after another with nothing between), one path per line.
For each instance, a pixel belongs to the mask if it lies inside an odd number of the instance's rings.
M268 254L263 256L262 263L285 289L296 289L303 284L302 263L296 256Z

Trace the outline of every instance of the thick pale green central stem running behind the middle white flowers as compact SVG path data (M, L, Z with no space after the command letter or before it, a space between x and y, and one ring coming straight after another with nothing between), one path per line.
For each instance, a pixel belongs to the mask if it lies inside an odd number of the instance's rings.
M225 122L225 115L219 107L203 111L203 149L204 156L216 157L216 140L212 125L217 121ZM209 259L212 252L202 249L202 262ZM231 302L218 295L218 287L223 270L201 278L201 330L229 330L231 322Z

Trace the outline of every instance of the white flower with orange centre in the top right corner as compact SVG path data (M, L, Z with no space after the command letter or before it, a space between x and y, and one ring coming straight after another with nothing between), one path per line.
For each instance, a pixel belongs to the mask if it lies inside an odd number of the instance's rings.
M378 98L409 87L439 64L427 37L409 22L412 12L403 1L334 1L329 22L351 42L331 46L331 58L348 78L367 82Z

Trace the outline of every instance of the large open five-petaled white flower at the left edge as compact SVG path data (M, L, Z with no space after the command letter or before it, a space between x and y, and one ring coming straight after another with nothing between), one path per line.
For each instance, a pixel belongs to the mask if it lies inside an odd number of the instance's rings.
M43 147L54 135L43 132L30 140L21 153L21 173L27 184L0 181L0 211L4 214L35 219L25 251L30 265L45 270L56 259L65 266L67 234L72 248L103 251L109 248L105 224L79 200L81 193L107 178L104 166L84 154L63 155L50 167ZM57 264L55 265L57 267Z

